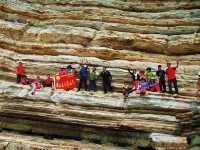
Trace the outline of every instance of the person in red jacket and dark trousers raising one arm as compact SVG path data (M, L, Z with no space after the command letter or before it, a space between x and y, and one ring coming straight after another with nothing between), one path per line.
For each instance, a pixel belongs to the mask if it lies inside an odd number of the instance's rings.
M168 79L168 87L169 87L169 93L172 92L172 84L174 85L174 89L176 94L178 94L178 86L177 86L177 80L176 80L176 69L179 66L179 61L177 61L176 67L173 67L171 63L167 63L167 69L166 69L166 75Z

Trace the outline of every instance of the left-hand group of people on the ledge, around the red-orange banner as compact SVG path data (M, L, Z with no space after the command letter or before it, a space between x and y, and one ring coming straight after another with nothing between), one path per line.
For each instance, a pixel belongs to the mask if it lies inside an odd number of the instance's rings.
M76 73L76 70L71 65L68 65L66 68L61 67L57 74L62 76ZM104 93L112 92L112 75L106 69L106 67L104 67L103 71L98 74L96 67L89 68L87 65L81 65L81 69L78 74L78 91L80 91L81 88L84 88L86 91L97 91L96 81L101 77ZM53 77L51 77L50 74L48 74L46 79L43 81L39 76L37 76L34 80L30 80L26 76L25 67L23 66L22 62L19 62L16 66L16 82L22 85L30 85L32 95L35 94L37 89L41 89L42 87L53 87L53 81Z

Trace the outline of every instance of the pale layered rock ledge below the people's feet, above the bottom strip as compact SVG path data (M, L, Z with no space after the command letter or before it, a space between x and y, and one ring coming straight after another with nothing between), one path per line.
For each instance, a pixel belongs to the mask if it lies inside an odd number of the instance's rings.
M187 114L193 113L194 108L200 110L191 97L153 93L140 97L134 93L124 102L119 93L104 95L45 88L31 95L28 86L3 81L1 85L5 85L0 89L1 128L103 143L134 146L144 140L146 146L154 148L186 149L186 132L179 118L189 119L191 115ZM187 130L189 135L192 132L195 131Z

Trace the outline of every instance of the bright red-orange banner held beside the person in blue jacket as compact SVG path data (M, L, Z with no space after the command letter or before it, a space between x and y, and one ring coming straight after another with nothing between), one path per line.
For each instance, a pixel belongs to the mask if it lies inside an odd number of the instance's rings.
M72 90L77 87L75 75L56 75L55 77L55 88Z

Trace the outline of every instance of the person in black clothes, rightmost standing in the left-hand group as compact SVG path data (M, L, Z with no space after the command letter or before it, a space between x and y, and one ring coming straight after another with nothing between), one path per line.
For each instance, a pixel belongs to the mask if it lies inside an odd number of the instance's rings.
M102 77L104 93L107 93L108 91L112 92L112 75L108 70L106 70L106 67L103 67L103 71L99 76Z

